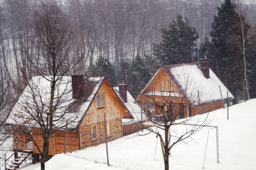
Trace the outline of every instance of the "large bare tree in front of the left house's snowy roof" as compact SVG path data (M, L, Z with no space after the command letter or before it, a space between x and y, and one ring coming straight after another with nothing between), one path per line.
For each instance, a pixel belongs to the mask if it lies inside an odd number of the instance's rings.
M53 133L65 127L65 121L72 128L72 123L79 115L74 110L77 102L72 97L71 77L68 75L79 69L76 66L81 56L76 54L79 52L76 33L68 16L56 3L42 3L39 12L34 13L30 25L34 32L30 44L38 54L30 55L27 50L24 53L31 64L32 75L38 76L27 77L27 73L21 68L27 87L19 97L10 118L12 124L32 127L32 132L31 128L21 130L39 150L41 170L44 170ZM43 138L42 150L33 139L36 135Z

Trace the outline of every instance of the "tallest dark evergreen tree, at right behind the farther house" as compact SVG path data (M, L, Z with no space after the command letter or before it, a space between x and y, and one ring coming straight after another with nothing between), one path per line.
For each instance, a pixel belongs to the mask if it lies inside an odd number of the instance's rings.
M240 19L235 7L231 0L225 0L221 7L217 7L208 54L211 68L237 99L242 94L244 61L234 40L242 37L242 30L236 23Z

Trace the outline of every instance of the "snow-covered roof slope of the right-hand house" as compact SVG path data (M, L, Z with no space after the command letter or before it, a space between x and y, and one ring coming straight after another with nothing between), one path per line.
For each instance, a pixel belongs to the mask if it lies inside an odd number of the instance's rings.
M200 104L222 100L220 89L223 99L227 99L227 88L210 68L210 78L206 78L193 63L162 66L162 68L193 105L198 105L198 92ZM229 98L234 98L230 92Z

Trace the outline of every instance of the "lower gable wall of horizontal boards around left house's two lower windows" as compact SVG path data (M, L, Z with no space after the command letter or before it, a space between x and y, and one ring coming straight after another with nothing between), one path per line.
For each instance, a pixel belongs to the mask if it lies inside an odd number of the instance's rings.
M122 137L121 119L111 120L112 123L112 136L107 137L108 142ZM91 139L91 126L80 126L80 149L84 149L89 146L96 146L98 144L105 143L105 126L104 122L96 123L97 125L97 139Z

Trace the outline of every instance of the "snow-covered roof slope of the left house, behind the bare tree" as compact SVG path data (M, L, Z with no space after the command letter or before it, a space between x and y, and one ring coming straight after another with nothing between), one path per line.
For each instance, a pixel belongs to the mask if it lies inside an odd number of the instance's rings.
M83 95L80 98L73 98L72 77L63 76L56 83L53 105L56 110L53 116L54 128L63 127L65 121L72 122L68 125L69 130L78 127L79 122L85 116L94 97L97 94L104 77L83 77ZM47 80L48 79L48 80ZM50 96L51 96L51 77L34 76L19 97L17 103L10 113L6 123L11 125L25 125L39 127L38 122L31 118L37 118L41 113L43 120L46 120ZM90 85L88 85L88 83ZM86 95L84 95L84 91ZM58 103L57 103L58 102ZM63 113L65 113L63 115ZM63 117L61 117L63 116Z

